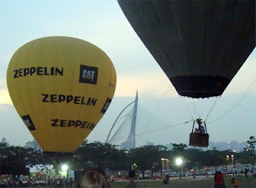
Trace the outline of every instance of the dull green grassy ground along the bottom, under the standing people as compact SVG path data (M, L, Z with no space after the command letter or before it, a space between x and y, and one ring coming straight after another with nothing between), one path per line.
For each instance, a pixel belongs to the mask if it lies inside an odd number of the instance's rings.
M256 179L254 177L237 177L236 178L240 184L239 187L244 188L255 188ZM232 187L231 177L225 178L226 188ZM198 178L170 178L169 184L163 184L161 181L140 181L135 182L137 187L149 187L149 188L162 188L162 187L174 187L174 188L208 188L214 187L214 178L213 177L198 177ZM111 188L126 187L126 182L112 182L110 183Z

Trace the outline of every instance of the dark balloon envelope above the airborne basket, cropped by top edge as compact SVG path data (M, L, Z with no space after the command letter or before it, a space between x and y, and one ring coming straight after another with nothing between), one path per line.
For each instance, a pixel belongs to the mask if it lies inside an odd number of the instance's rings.
M178 94L223 93L255 46L255 1L118 0Z

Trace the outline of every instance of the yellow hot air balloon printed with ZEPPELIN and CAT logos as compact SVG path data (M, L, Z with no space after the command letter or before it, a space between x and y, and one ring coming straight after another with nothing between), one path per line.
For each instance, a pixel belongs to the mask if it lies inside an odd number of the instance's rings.
M46 37L15 52L7 85L42 150L74 152L110 105L116 74L110 58L90 42Z

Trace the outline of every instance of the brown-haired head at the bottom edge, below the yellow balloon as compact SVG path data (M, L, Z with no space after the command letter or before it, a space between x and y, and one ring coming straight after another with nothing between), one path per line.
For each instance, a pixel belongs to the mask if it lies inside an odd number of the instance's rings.
M82 177L81 187L84 188L106 188L106 178L95 170L89 170Z

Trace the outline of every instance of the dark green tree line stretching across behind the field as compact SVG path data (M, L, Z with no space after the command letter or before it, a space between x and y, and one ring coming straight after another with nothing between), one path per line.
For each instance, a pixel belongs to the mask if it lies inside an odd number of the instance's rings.
M168 159L170 169L176 170L174 159L180 157L184 161L182 168L187 170L200 169L205 166L226 166L233 155L235 163L254 164L255 138L250 137L247 141L248 147L242 152L236 153L232 150L202 150L190 148L185 144L172 143L172 150L166 146L141 146L134 150L119 150L118 146L102 142L82 142L72 154L44 153L31 148L21 146L8 146L0 143L0 174L29 174L27 166L36 164L53 164L58 170L62 163L68 163L71 170L86 170L95 166L101 166L109 170L130 170L136 168L144 176L145 170L152 173L161 170L162 158ZM229 159L229 161L227 161Z

